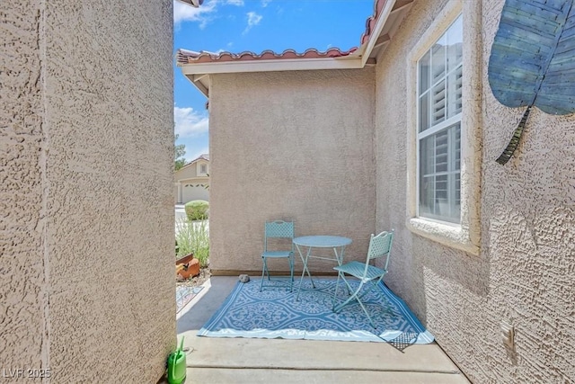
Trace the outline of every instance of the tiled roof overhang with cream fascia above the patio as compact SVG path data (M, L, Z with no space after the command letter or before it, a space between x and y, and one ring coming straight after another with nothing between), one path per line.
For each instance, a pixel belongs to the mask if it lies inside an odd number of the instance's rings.
M374 0L374 13L367 18L360 46L349 50L332 48L321 52L318 49L307 49L304 53L297 53L294 49L286 49L281 53L264 50L256 54L251 51L213 53L178 49L176 62L183 75L206 96L209 95L207 74L362 68L376 64L376 58L385 50L412 2Z

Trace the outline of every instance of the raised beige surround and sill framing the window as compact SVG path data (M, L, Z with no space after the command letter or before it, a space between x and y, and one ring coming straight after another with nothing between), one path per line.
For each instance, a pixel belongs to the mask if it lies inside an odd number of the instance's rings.
M461 117L461 223L419 218L417 153L417 63L462 14L464 24L463 99ZM482 156L482 17L481 2L450 0L407 57L407 218L411 232L479 255L481 242Z

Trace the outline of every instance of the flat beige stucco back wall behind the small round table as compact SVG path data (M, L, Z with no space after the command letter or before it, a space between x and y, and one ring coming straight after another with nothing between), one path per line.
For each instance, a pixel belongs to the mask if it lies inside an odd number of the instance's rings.
M296 236L351 237L347 255L365 255L375 223L374 75L372 67L212 76L214 270L261 271L270 219L293 219ZM288 270L281 262L272 270Z

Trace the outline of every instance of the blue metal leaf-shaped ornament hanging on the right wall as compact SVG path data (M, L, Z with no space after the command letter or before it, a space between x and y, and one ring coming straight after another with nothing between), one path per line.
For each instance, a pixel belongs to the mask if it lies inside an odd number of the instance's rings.
M510 108L526 107L503 153L505 165L517 149L529 112L575 112L574 0L506 0L489 59L495 98Z

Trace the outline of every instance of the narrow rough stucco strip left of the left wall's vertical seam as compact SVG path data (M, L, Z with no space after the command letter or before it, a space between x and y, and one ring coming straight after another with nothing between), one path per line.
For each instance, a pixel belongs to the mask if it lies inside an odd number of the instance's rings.
M45 160L37 2L3 4L0 40L0 368L46 367Z

